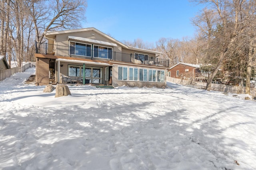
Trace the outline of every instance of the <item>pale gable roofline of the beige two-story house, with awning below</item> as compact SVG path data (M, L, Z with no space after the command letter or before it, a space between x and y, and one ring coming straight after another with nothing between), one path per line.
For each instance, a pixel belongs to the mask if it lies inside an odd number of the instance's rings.
M163 54L161 52L158 52L158 51L152 51L152 50L146 50L146 49L139 49L139 48L135 48L135 47L130 47L130 46L127 46L119 41L117 41L116 39L110 37L109 35L106 35L105 33L99 31L98 29L94 28L94 27L89 27L89 28L80 28L80 29L69 29L69 30L63 30L63 31L46 31L44 32L44 35L46 37L51 37L54 36L54 35L57 35L57 34L62 34L62 33L76 33L76 32L81 32L81 31L95 31L96 33L99 33L100 35L106 37L107 39L110 39L111 41L114 41L116 44L119 44L120 46L126 48L126 49L131 49L131 50L138 50L138 51L144 51L144 52L148 52L148 53L154 53L154 54ZM81 39L82 37L73 37L75 39ZM73 39L72 38L72 39ZM82 38L82 39L86 39L86 38ZM89 39L90 41L88 42L92 42L92 41L97 41L96 43L99 43L98 40L92 40L92 39ZM92 42L93 43L93 42ZM102 43L106 43L104 41L100 42L100 44ZM116 46L114 45L115 43L112 43L113 46Z

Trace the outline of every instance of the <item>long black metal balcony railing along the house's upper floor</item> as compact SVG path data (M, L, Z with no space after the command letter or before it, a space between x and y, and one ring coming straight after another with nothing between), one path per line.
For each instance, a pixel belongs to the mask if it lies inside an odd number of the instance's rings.
M102 61L123 61L128 63L150 64L156 66L169 66L169 60L158 59L155 57L141 57L133 54L119 53L116 51L94 51L91 48L81 49L48 43L36 43L37 54L52 54L64 57L78 57Z

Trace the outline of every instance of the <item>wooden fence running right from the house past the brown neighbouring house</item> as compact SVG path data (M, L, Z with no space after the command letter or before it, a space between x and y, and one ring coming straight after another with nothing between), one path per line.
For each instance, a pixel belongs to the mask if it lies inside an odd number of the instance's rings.
M200 89L205 89L206 84L205 82L196 82L192 83L192 80L187 78L187 79L179 79L179 78L172 78L172 77L166 77L166 80L168 82L173 82L177 84L181 84L183 86L192 86L194 88L200 88ZM244 86L231 86L231 85L226 85L226 84L215 84L212 83L211 85L211 90L218 91L218 92L230 92L230 93L236 93L236 94L245 94L245 87ZM256 96L256 88L251 88L250 89L250 95L255 97Z

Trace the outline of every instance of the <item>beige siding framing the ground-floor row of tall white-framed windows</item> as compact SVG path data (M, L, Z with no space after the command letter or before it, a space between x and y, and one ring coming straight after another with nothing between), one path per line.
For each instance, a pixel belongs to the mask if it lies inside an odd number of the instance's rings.
M140 81L124 81L124 80L118 80L118 66L126 66L126 65L113 65L112 68L112 81L113 81L113 86L117 87L117 86L129 86L129 87L158 87L158 88L162 88L164 86L166 86L166 76L165 76L165 82L140 82ZM129 67L129 66L127 66ZM146 67L142 67L142 66L130 66L133 68L146 68ZM154 70L164 70L164 69L156 69L156 68L147 68L147 69L154 69ZM165 71L165 70L164 70Z

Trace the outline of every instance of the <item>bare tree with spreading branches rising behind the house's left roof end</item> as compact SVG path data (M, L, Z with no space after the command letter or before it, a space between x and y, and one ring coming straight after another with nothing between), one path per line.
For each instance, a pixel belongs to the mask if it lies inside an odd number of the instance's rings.
M43 32L77 28L80 27L80 21L86 19L86 0L50 0L49 8L44 8L44 3L44 0L32 0L27 3L38 43L44 39Z

